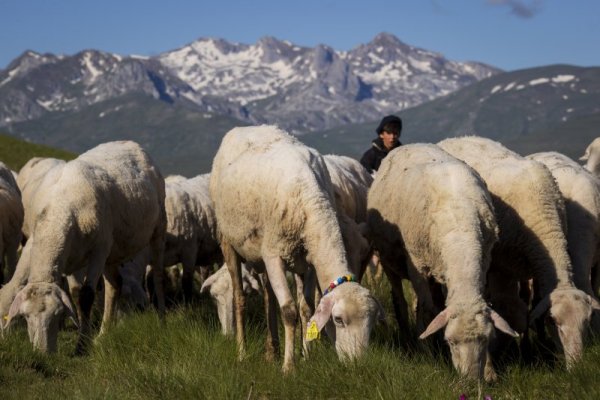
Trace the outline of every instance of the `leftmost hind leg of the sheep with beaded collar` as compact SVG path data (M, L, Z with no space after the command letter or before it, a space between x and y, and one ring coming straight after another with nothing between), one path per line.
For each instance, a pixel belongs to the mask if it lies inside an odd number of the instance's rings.
M235 336L238 347L238 359L241 361L246 356L246 339L244 335L244 309L246 308L246 299L244 298L242 283L242 264L236 251L225 240L221 242L221 250L229 275L231 276L231 285L233 289L233 309L235 312Z

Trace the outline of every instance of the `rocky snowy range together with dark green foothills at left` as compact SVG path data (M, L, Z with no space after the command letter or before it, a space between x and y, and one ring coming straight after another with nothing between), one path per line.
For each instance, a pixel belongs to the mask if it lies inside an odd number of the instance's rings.
M346 52L273 37L201 38L155 57L26 51L0 70L0 130L73 152L138 138L166 172L198 173L232 126L302 135L372 121L499 72L387 33Z

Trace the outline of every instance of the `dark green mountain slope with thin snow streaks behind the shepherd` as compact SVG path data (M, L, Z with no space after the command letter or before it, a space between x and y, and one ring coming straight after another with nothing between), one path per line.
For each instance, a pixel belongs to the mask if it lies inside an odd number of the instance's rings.
M577 159L600 134L600 67L551 65L497 74L397 114L403 143L476 134L521 154L555 150ZM377 123L312 132L302 140L325 153L360 157Z

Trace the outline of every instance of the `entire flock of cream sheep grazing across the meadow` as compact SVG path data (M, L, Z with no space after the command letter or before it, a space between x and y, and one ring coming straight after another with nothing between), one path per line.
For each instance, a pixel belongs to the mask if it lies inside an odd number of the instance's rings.
M351 158L322 156L263 125L232 129L211 173L191 179L164 179L130 141L69 162L34 158L16 179L0 163L0 325L23 316L34 347L55 351L69 316L83 353L96 298L100 334L120 304L152 298L164 317L165 266L180 263L186 301L202 267L201 290L240 357L245 295L264 296L270 358L279 306L287 372L298 319L305 356L323 330L340 359L363 353L386 318L360 285L379 261L399 328L414 308L420 338L443 331L460 374L495 379L492 355L515 337L527 343L533 325L570 368L587 331L600 329L600 138L582 159L585 168L555 152L521 157L469 136L401 146L372 177Z

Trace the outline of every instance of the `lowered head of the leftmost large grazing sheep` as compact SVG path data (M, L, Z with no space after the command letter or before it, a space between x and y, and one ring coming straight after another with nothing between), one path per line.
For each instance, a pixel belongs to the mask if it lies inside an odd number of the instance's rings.
M6 325L22 315L27 321L29 340L43 352L56 351L59 322L65 312L77 320L67 293L54 283L29 283L15 296L8 311Z

